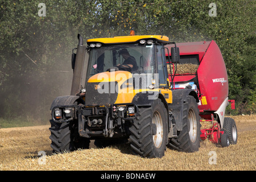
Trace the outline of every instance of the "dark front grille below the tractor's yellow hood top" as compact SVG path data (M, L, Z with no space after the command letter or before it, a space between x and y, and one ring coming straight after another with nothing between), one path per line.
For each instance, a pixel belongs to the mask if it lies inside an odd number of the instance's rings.
M114 104L118 95L118 83L88 82L85 93L85 106L104 106Z

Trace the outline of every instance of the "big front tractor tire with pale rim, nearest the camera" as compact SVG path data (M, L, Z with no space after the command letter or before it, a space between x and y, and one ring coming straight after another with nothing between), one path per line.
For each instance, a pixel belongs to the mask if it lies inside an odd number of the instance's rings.
M168 143L167 109L158 98L151 107L139 107L139 116L130 127L131 149L135 155L162 158Z

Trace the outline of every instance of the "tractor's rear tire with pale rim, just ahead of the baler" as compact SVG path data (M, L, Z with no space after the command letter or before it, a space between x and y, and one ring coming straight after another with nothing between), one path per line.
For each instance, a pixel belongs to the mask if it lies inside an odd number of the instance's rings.
M183 105L183 129L177 131L177 138L170 139L170 147L177 151L195 152L200 147L200 116L193 96L186 96Z

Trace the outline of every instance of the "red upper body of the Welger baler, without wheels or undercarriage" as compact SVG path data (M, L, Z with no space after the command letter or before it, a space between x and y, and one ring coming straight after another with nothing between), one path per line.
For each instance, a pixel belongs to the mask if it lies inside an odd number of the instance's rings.
M200 111L217 111L228 98L228 75L220 48L214 40L177 43L177 47L180 48L180 64L197 64L199 67L195 73L176 73L174 89L184 88L182 85L188 83L195 84ZM169 79L171 80L170 75Z

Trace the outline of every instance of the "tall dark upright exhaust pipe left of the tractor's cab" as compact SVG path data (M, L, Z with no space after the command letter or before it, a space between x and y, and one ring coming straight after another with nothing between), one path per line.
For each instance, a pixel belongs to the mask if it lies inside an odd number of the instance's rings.
M80 92L81 80L82 80L82 69L84 67L84 60L85 60L85 54L86 54L84 39L82 39L82 36L80 34L77 35L77 39L79 39L79 44L77 45L77 51L75 56L75 67L73 71L71 96L76 96L76 94Z

